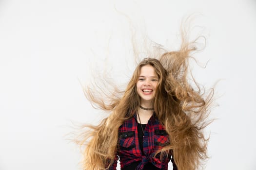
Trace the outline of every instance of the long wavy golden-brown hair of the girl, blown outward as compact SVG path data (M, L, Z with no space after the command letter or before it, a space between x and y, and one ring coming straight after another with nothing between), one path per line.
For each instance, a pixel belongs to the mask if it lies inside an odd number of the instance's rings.
M79 136L81 140L77 142L80 146L85 145L82 161L84 170L108 169L108 165L114 162L118 128L124 120L135 114L134 111L139 105L136 82L140 68L145 65L153 66L158 75L154 108L171 140L170 145L158 153L163 155L171 150L178 170L196 170L201 161L207 158L208 139L204 137L202 130L209 124L206 118L213 92L205 95L193 77L189 78L188 60L196 48L192 47L194 43L187 43L185 38L182 40L179 51L165 51L153 56L154 58L142 60L124 92L114 88L108 98L100 98L96 97L90 88L84 90L94 106L111 112L99 125L85 125L90 130ZM101 89L101 92L104 90Z

